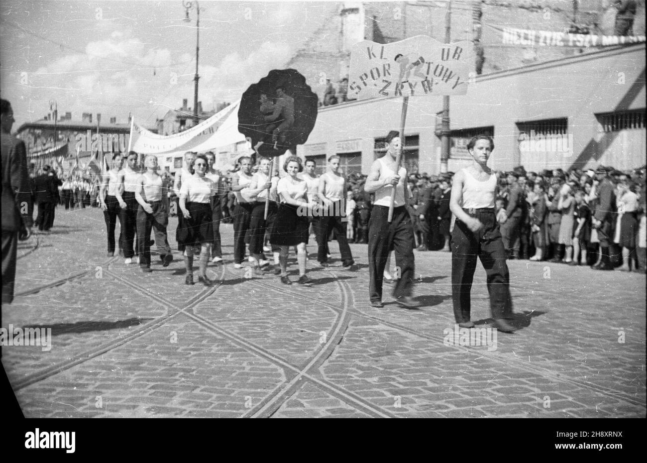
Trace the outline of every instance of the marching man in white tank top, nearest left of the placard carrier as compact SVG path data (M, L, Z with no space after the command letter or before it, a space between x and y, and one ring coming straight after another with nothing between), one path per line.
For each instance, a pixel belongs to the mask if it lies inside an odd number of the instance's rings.
M317 235L317 260L323 267L328 266L326 247L328 236L334 229L342 266L351 269L355 261L346 238L346 179L339 172L339 156L328 158L328 172L319 177L318 200L320 204L319 233ZM342 216L344 220L342 220Z

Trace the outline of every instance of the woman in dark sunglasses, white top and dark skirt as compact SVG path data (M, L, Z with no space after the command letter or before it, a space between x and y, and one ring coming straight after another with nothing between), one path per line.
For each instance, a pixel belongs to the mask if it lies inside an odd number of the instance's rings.
M211 286L214 282L206 276L206 265L214 242L211 197L215 194L216 186L205 176L207 165L206 156L199 154L193 161L195 174L182 177L179 203L184 218L184 228L178 228L177 240L184 246L185 283L193 284L193 255L199 253L198 279L204 286Z

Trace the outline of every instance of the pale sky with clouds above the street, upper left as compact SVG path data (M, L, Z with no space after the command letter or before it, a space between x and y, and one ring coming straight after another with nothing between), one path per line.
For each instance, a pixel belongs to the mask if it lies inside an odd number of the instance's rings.
M270 69L281 69L338 9L325 2L199 2L199 100L233 101ZM195 9L181 0L12 1L0 3L0 93L16 130L59 115L129 113L154 124L182 98L193 106Z

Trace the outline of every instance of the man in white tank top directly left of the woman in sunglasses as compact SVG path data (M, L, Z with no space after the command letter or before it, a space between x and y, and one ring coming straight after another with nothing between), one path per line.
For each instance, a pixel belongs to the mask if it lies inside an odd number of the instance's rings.
M157 157L148 155L144 161L146 172L140 175L135 190L135 199L139 203L137 210L137 236L139 238L139 266L144 273L151 272L151 229L155 231L157 252L164 267L173 262L173 253L168 245L166 225L168 225L168 208L164 201L166 188L162 188L162 177L157 174Z

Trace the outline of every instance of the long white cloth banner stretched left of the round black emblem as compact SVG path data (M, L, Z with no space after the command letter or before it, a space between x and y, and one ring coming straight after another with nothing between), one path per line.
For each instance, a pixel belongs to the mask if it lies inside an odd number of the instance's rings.
M158 135L133 120L130 149L141 154L171 156L187 151L214 151L220 146L245 141L245 137L238 131L239 104L240 100L197 126L173 135Z

